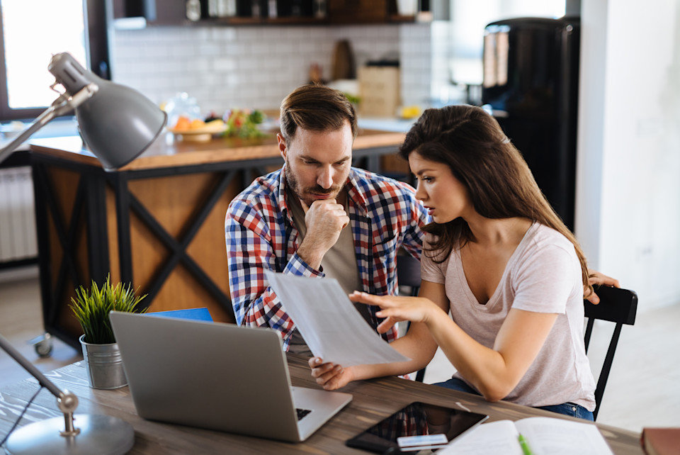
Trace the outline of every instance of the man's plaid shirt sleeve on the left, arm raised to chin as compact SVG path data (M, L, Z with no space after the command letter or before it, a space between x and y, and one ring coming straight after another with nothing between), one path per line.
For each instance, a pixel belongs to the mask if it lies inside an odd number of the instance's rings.
M295 325L283 310L264 274L265 269L301 276L323 276L312 269L297 253L282 264L286 249L283 215L266 198L249 201L236 198L229 204L225 220L229 291L237 324L248 327L271 327L284 339ZM280 221L278 223L277 221Z

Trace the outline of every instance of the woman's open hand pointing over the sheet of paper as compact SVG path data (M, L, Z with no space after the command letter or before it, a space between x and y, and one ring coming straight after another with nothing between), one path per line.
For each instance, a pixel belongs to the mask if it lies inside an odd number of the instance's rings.
M349 295L349 300L380 306L380 311L375 315L385 320L378 325L378 333L387 332L399 321L426 323L437 310L441 311L432 300L422 297L373 296L365 292L354 291Z

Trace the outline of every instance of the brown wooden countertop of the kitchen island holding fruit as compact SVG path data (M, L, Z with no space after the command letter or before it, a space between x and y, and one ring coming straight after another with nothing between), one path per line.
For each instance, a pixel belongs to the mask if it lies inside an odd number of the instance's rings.
M354 140L353 150L373 147L397 147L404 141L404 133L387 133L375 130L360 130ZM34 153L50 155L82 164L101 167L96 157L84 149L79 136L47 137L30 141ZM209 142L186 142L174 139L171 133L161 133L158 139L140 157L119 171L181 167L216 162L235 162L245 159L264 159L280 156L276 135L261 139L238 137L217 137Z

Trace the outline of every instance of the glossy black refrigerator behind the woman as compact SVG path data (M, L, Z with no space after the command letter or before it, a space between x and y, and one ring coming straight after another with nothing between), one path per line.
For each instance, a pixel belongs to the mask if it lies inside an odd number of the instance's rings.
M482 104L522 152L538 186L574 229L579 18L489 23Z

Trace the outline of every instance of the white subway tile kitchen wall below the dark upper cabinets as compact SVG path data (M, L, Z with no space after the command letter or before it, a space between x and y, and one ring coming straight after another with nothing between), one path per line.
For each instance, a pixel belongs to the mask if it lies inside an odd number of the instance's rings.
M430 24L378 26L149 27L115 30L113 80L156 103L186 91L201 111L278 108L309 81L310 65L331 77L334 45L349 40L357 67L400 60L402 103L431 98Z

